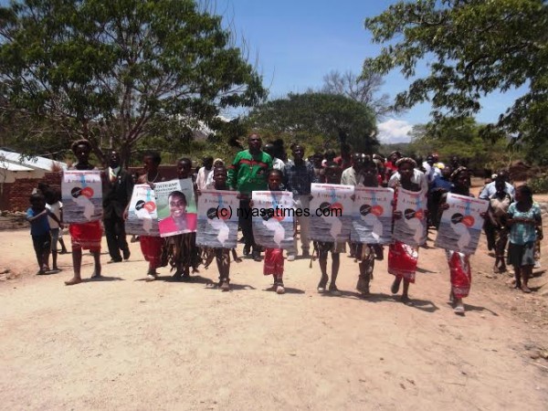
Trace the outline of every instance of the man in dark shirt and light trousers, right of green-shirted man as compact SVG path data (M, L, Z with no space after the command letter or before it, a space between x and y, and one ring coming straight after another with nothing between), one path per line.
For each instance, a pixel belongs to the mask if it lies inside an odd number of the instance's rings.
M293 160L288 161L284 168L284 184L286 189L293 193L293 202L300 213L295 213L300 225L300 244L302 257L310 257L311 239L310 216L304 216L304 210L311 206L311 184L317 183L314 166L304 160L304 146L295 144L292 146ZM300 215L300 216L299 216ZM297 253L297 239L295 239L295 251L288 253L288 261L293 261Z

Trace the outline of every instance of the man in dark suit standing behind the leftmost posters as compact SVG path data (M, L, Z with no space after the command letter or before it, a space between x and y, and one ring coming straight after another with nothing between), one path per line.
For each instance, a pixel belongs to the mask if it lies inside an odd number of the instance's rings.
M132 199L132 174L123 170L120 165L120 154L111 151L109 168L103 179L103 224L111 261L121 262L130 258L130 248L126 241L123 212Z

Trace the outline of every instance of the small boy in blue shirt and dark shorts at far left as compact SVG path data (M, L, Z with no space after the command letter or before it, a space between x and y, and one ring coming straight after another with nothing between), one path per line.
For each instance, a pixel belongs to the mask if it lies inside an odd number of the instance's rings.
M37 275L46 274L49 271L47 259L49 258L50 234L49 223L47 222L46 200L42 193L30 195L30 208L26 210L26 221L30 223L30 235L32 244L37 255Z

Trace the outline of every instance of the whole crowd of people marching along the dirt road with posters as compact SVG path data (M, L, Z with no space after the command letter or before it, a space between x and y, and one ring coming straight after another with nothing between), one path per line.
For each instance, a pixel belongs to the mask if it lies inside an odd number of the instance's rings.
M93 170L90 163L90 142L79 140L72 145L77 162L75 170ZM293 195L296 208L309 208L311 203L311 184L346 184L353 186L391 187L395 191L395 219L402 218L396 211L398 189L420 193L427 198L427 222L436 228L442 212L448 208L448 193L472 196L470 194L469 169L452 157L445 164L436 154L428 155L426 161L416 162L402 153L390 153L385 159L379 154L353 153L347 145L342 146L340 156L332 150L326 153L313 153L306 156L306 148L299 143L290 147L290 159L283 148L283 142L275 141L262 146L258 134L248 136L248 149L237 153L231 162L220 158L205 157L202 167L193 170L193 163L182 158L176 164L177 178L191 179L195 187L195 197L206 189L235 190L238 192L240 210L239 227L244 243L244 257L263 261L264 275L273 276L273 290L279 294L285 291L283 282L284 258L279 248L263 249L253 236L251 217L245 210L253 207L251 194L254 191L289 191ZM108 167L101 173L103 184L103 216L100 221L70 224L68 231L72 246L73 277L65 283L78 284L81 278L82 250L88 249L94 258L92 278L101 276L100 242L103 233L111 260L118 263L131 256L124 221L128 216L129 202L133 184L154 184L166 180L159 169L159 153L145 153L142 158L142 174L132 175L121 168L120 155L115 151L109 154ZM489 184L481 190L479 198L489 201L489 209L482 214L488 248L494 251L494 268L497 272L506 271L507 264L514 269L515 287L523 292L531 292L528 280L532 269L538 264L540 240L543 238L541 210L532 199L532 191L527 185L514 187L509 174L502 170L491 176ZM173 204L172 204L173 203ZM33 245L37 255L39 270L37 274L50 272L48 259L52 255L53 269L58 269L58 239L62 231L62 205L58 193L42 185L30 197L27 219L31 225ZM187 200L183 193L170 195L169 205L172 216L184 212ZM181 211L183 210L183 211ZM348 248L350 256L358 262L356 289L364 296L370 293L370 281L373 278L375 260L385 259L385 249L380 244L362 244L352 242L312 241L310 237L310 216L296 215L295 229L299 230L299 241L295 235L294 247L288 250L287 260L296 258L318 258L320 280L318 292L340 295L336 280L339 274L342 253ZM167 219L166 219L167 220ZM177 225L176 221L163 224ZM239 259L235 249L199 248L195 244L195 232L178 234L171 237L140 236L142 255L148 262L146 280L157 279L157 269L170 266L174 279L191 279L191 270L195 272L201 263L209 265L216 260L219 272L218 287L230 290L230 261ZM298 242L300 244L298 244ZM509 243L509 244L508 244ZM508 251L507 250L508 244ZM64 244L63 250L66 251ZM402 290L401 300L409 299L410 284L415 283L419 248L401 241L387 245L387 271L395 276L391 287L393 294ZM300 250L300 252L298 252ZM262 253L264 252L264 258ZM328 257L331 253L331 269L328 269ZM505 254L508 254L505 256ZM465 312L463 298L469 295L471 269L469 255L458 250L446 250L450 273L450 300L458 314Z

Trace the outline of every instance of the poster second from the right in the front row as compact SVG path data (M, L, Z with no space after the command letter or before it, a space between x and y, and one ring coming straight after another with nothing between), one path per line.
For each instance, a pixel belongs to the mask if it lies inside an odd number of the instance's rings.
M427 197L422 192L397 190L396 211L402 213L394 222L394 239L408 246L422 246L427 241Z

